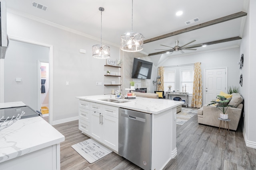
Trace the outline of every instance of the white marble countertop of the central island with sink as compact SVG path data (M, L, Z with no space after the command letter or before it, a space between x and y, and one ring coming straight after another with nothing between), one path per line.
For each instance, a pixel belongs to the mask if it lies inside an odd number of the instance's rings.
M80 100L85 100L88 102L95 102L99 104L105 104L110 106L122 107L125 109L132 109L135 111L141 111L145 113L158 114L173 107L180 106L184 104L184 102L168 100L168 99L153 99L153 98L141 98L136 97L136 99L116 99L116 100L128 100L130 102L125 103L114 103L114 102L106 102L101 99L108 98L115 99L115 95L97 95L97 96L80 96L76 97Z

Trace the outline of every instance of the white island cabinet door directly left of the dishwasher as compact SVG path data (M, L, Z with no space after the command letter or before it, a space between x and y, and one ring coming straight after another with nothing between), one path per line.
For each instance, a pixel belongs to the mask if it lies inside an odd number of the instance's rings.
M102 114L102 143L118 152L118 118Z

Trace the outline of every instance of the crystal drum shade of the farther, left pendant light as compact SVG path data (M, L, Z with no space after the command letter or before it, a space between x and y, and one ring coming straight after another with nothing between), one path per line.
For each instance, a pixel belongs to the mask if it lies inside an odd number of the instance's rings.
M97 59L107 59L110 57L110 47L107 45L92 46L92 57Z

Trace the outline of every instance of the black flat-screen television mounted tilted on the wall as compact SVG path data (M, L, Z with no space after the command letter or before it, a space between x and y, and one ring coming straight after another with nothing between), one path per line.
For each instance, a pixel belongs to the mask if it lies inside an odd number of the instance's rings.
M153 63L151 62L134 58L132 66L132 78L150 79L152 66Z

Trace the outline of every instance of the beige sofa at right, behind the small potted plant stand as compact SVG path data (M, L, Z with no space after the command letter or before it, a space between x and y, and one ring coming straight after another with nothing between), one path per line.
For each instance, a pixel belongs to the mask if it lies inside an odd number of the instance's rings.
M232 99L228 105L232 105L234 107L228 107L226 113L228 113L228 119L230 119L229 129L236 131L243 109L243 98L238 93L233 93L231 95ZM219 127L220 120L218 117L220 117L220 113L222 112L215 105L207 106L206 104L198 109L198 123Z

